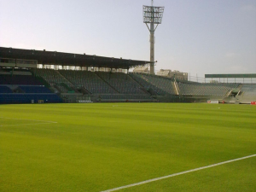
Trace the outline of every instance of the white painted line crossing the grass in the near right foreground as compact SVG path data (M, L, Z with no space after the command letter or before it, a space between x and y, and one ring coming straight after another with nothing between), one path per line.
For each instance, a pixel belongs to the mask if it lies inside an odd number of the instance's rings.
M191 169L191 170L185 171L185 172L177 172L177 173L174 173L172 175L167 175L167 176L164 176L164 177L156 177L156 178L153 178L153 179L148 179L148 180L143 181L143 182L128 184L128 185L125 185L125 186L122 186L122 187L104 190L102 192L112 192L112 191L116 191L116 190L120 190L120 189L131 188L131 187L134 187L134 186L137 186L137 185L142 185L142 184L145 184L145 183L151 183L151 182L158 181L158 180L161 180L161 179L165 179L165 178L169 178L169 177L175 177L175 176L178 176L178 175L183 175L183 174L186 174L186 173L189 173L189 172L197 172L197 171L200 171L200 170L203 170L203 169L211 168L213 166L221 166L221 165L231 163L231 162L234 162L234 161L237 161L237 160L245 160L245 159L252 158L252 157L256 157L256 154L241 157L241 158L238 158L238 159L235 159L235 160L227 160L227 161L224 161L224 162L212 164L210 166L202 166L202 167Z

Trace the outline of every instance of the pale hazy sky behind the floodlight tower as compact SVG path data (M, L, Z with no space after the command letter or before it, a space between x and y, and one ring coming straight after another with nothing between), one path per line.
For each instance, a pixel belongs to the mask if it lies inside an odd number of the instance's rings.
M150 0L0 0L0 46L149 61ZM256 0L155 0L156 70L256 73Z

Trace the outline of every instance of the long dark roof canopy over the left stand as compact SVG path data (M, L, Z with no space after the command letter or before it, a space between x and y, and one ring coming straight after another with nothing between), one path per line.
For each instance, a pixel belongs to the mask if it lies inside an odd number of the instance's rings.
M97 55L61 53L57 51L14 49L0 47L0 57L22 60L37 60L38 64L61 65L73 67L109 67L109 68L131 68L143 66L150 61L136 61L117 59Z

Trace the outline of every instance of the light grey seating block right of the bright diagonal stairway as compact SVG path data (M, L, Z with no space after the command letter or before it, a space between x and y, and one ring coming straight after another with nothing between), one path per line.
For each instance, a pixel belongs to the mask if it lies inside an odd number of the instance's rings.
M239 84L183 84L177 83L181 95L224 96Z

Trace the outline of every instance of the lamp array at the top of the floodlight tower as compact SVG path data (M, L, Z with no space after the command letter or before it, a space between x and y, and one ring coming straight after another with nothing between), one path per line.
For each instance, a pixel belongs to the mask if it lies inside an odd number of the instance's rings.
M143 5L143 22L161 24L165 7L152 7Z

